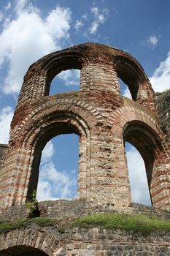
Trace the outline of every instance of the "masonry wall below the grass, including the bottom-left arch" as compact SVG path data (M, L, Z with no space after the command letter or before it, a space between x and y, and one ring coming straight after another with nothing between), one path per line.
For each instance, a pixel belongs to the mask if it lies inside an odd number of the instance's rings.
M49 256L170 255L169 233L151 236L122 230L74 227L61 234L57 228L28 226L0 234L1 256L27 252ZM18 254L17 254L18 255ZM43 254L42 254L43 255Z

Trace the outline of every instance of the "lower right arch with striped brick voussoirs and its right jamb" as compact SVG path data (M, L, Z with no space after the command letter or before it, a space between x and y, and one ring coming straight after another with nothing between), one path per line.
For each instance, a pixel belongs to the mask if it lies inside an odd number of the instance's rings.
M123 107L110 114L107 125L112 127L111 135L122 138L122 142L127 140L142 154L147 169L152 206L168 206L168 150L156 119L142 109Z

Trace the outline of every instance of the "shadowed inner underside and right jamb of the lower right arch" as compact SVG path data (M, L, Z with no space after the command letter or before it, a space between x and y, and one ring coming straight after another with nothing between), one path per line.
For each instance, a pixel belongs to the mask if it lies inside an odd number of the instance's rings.
M152 206L163 207L163 197L169 197L163 141L152 127L136 120L127 122L123 127L123 142L126 141L135 146L144 159Z

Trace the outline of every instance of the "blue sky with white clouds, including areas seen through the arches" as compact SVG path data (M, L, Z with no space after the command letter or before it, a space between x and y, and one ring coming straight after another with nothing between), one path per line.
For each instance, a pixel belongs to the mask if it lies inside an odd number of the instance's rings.
M120 48L136 58L155 91L170 89L170 1L168 0L0 0L0 143L9 127L28 67L56 50L83 42ZM80 72L53 79L50 94L79 89ZM130 97L121 83L122 94ZM77 135L47 143L39 167L38 200L77 196ZM131 195L150 205L144 163L126 145Z

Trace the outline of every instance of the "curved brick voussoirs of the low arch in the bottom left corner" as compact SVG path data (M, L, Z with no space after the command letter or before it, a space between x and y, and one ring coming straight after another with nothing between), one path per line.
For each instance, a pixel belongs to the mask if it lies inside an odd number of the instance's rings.
M12 246L29 246L33 249L39 249L49 256L56 255L56 252L60 256L65 251L59 243L61 241L59 233L56 235L41 228L18 228L7 233L1 233L0 241L0 254L2 250L9 249Z

